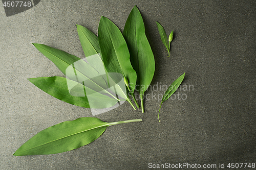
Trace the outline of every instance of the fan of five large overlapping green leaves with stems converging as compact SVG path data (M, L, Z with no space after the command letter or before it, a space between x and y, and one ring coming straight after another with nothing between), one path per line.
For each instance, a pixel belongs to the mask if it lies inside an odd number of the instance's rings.
M138 85L141 108L144 112L143 95L153 79L155 61L138 8L135 6L132 9L126 20L123 34L111 20L104 16L99 22L98 37L79 25L77 25L77 32L88 63L56 48L34 43L37 50L49 58L69 79L44 77L29 80L59 100L86 108L114 106L120 99L113 93L128 101L135 109L128 95L130 93L139 108L134 96L135 86ZM110 73L122 75L128 90L126 91L125 87L118 84L120 80L118 76ZM84 95L71 95L65 81L74 84L72 86L77 87L76 92L79 91L78 89L84 89L81 90ZM100 99L102 102L98 104L90 102L88 93L90 99Z

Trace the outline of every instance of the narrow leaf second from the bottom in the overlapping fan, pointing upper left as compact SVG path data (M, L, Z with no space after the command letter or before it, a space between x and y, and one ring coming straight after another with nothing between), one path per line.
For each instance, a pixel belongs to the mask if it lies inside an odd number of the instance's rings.
M106 90L108 89L108 85L103 77L87 62L84 62L74 55L44 44L34 43L34 46L39 52L50 59L69 79L79 83L86 82L87 84L85 85L87 87L97 92L108 93L116 99L113 94Z

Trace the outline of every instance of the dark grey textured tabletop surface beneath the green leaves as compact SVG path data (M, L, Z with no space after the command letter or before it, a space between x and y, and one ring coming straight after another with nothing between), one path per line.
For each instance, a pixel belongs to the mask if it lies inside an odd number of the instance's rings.
M59 101L27 78L62 76L32 43L82 58L76 24L98 31L100 16L121 30L137 5L155 55L152 85L186 72L186 100L129 103L97 115L105 122L142 118L109 127L97 140L66 153L12 156L39 131L92 116L90 109ZM0 169L148 169L148 163L256 162L256 3L252 1L46 1L6 17L0 9ZM155 21L174 29L171 57ZM147 91L146 94L164 91ZM150 95L151 96L151 95ZM183 95L184 96L184 95Z

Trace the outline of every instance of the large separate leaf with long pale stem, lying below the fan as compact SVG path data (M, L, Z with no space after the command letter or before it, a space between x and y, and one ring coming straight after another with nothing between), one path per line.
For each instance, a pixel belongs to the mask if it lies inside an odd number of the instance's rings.
M37 133L13 155L47 155L71 151L93 142L109 126L140 121L142 120L134 119L105 123L96 117L81 117L62 122Z

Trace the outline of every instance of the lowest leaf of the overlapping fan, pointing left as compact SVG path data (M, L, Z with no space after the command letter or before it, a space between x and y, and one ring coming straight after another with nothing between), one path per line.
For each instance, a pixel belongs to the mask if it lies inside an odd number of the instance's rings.
M75 81L54 76L28 79L35 86L61 101L85 108L109 108L117 100L100 94Z

